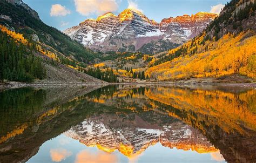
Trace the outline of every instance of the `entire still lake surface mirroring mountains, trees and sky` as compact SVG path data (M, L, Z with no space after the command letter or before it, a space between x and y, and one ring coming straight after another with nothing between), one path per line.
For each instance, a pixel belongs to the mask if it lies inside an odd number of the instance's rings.
M0 162L256 162L256 90L96 89L0 92Z

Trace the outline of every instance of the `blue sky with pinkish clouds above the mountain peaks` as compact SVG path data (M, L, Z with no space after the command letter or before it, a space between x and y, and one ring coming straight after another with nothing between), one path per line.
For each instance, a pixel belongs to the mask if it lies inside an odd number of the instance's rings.
M150 19L194 14L199 11L218 12L228 0L23 0L36 10L42 21L59 30L78 25L87 18L97 18L107 11L114 14L136 8ZM221 5L222 4L222 5Z

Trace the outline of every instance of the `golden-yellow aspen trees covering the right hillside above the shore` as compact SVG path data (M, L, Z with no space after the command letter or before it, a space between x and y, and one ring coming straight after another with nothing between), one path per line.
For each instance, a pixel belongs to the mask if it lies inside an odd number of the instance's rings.
M188 47L187 55L174 58L170 62L150 67L146 74L159 80L184 79L191 77L220 77L241 74L256 78L256 35L253 31L242 32L238 36L230 33L218 42L206 41L200 45L204 35L197 37L197 46ZM177 49L169 52L172 54ZM188 55L196 51L194 55Z

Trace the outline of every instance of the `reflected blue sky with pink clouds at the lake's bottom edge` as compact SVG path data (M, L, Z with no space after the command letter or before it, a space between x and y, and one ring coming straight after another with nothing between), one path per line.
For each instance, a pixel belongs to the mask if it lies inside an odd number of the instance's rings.
M219 151L197 153L170 149L160 143L150 146L136 158L127 158L119 151L106 153L97 147L87 147L64 134L44 142L28 162L225 162Z

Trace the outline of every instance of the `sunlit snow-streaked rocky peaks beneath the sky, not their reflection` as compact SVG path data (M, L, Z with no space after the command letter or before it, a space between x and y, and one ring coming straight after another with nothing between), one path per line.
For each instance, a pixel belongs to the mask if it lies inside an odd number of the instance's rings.
M86 19L64 33L96 51L153 53L172 49L197 36L216 16L199 12L157 23L140 11L125 9L118 16L108 12L97 19Z

